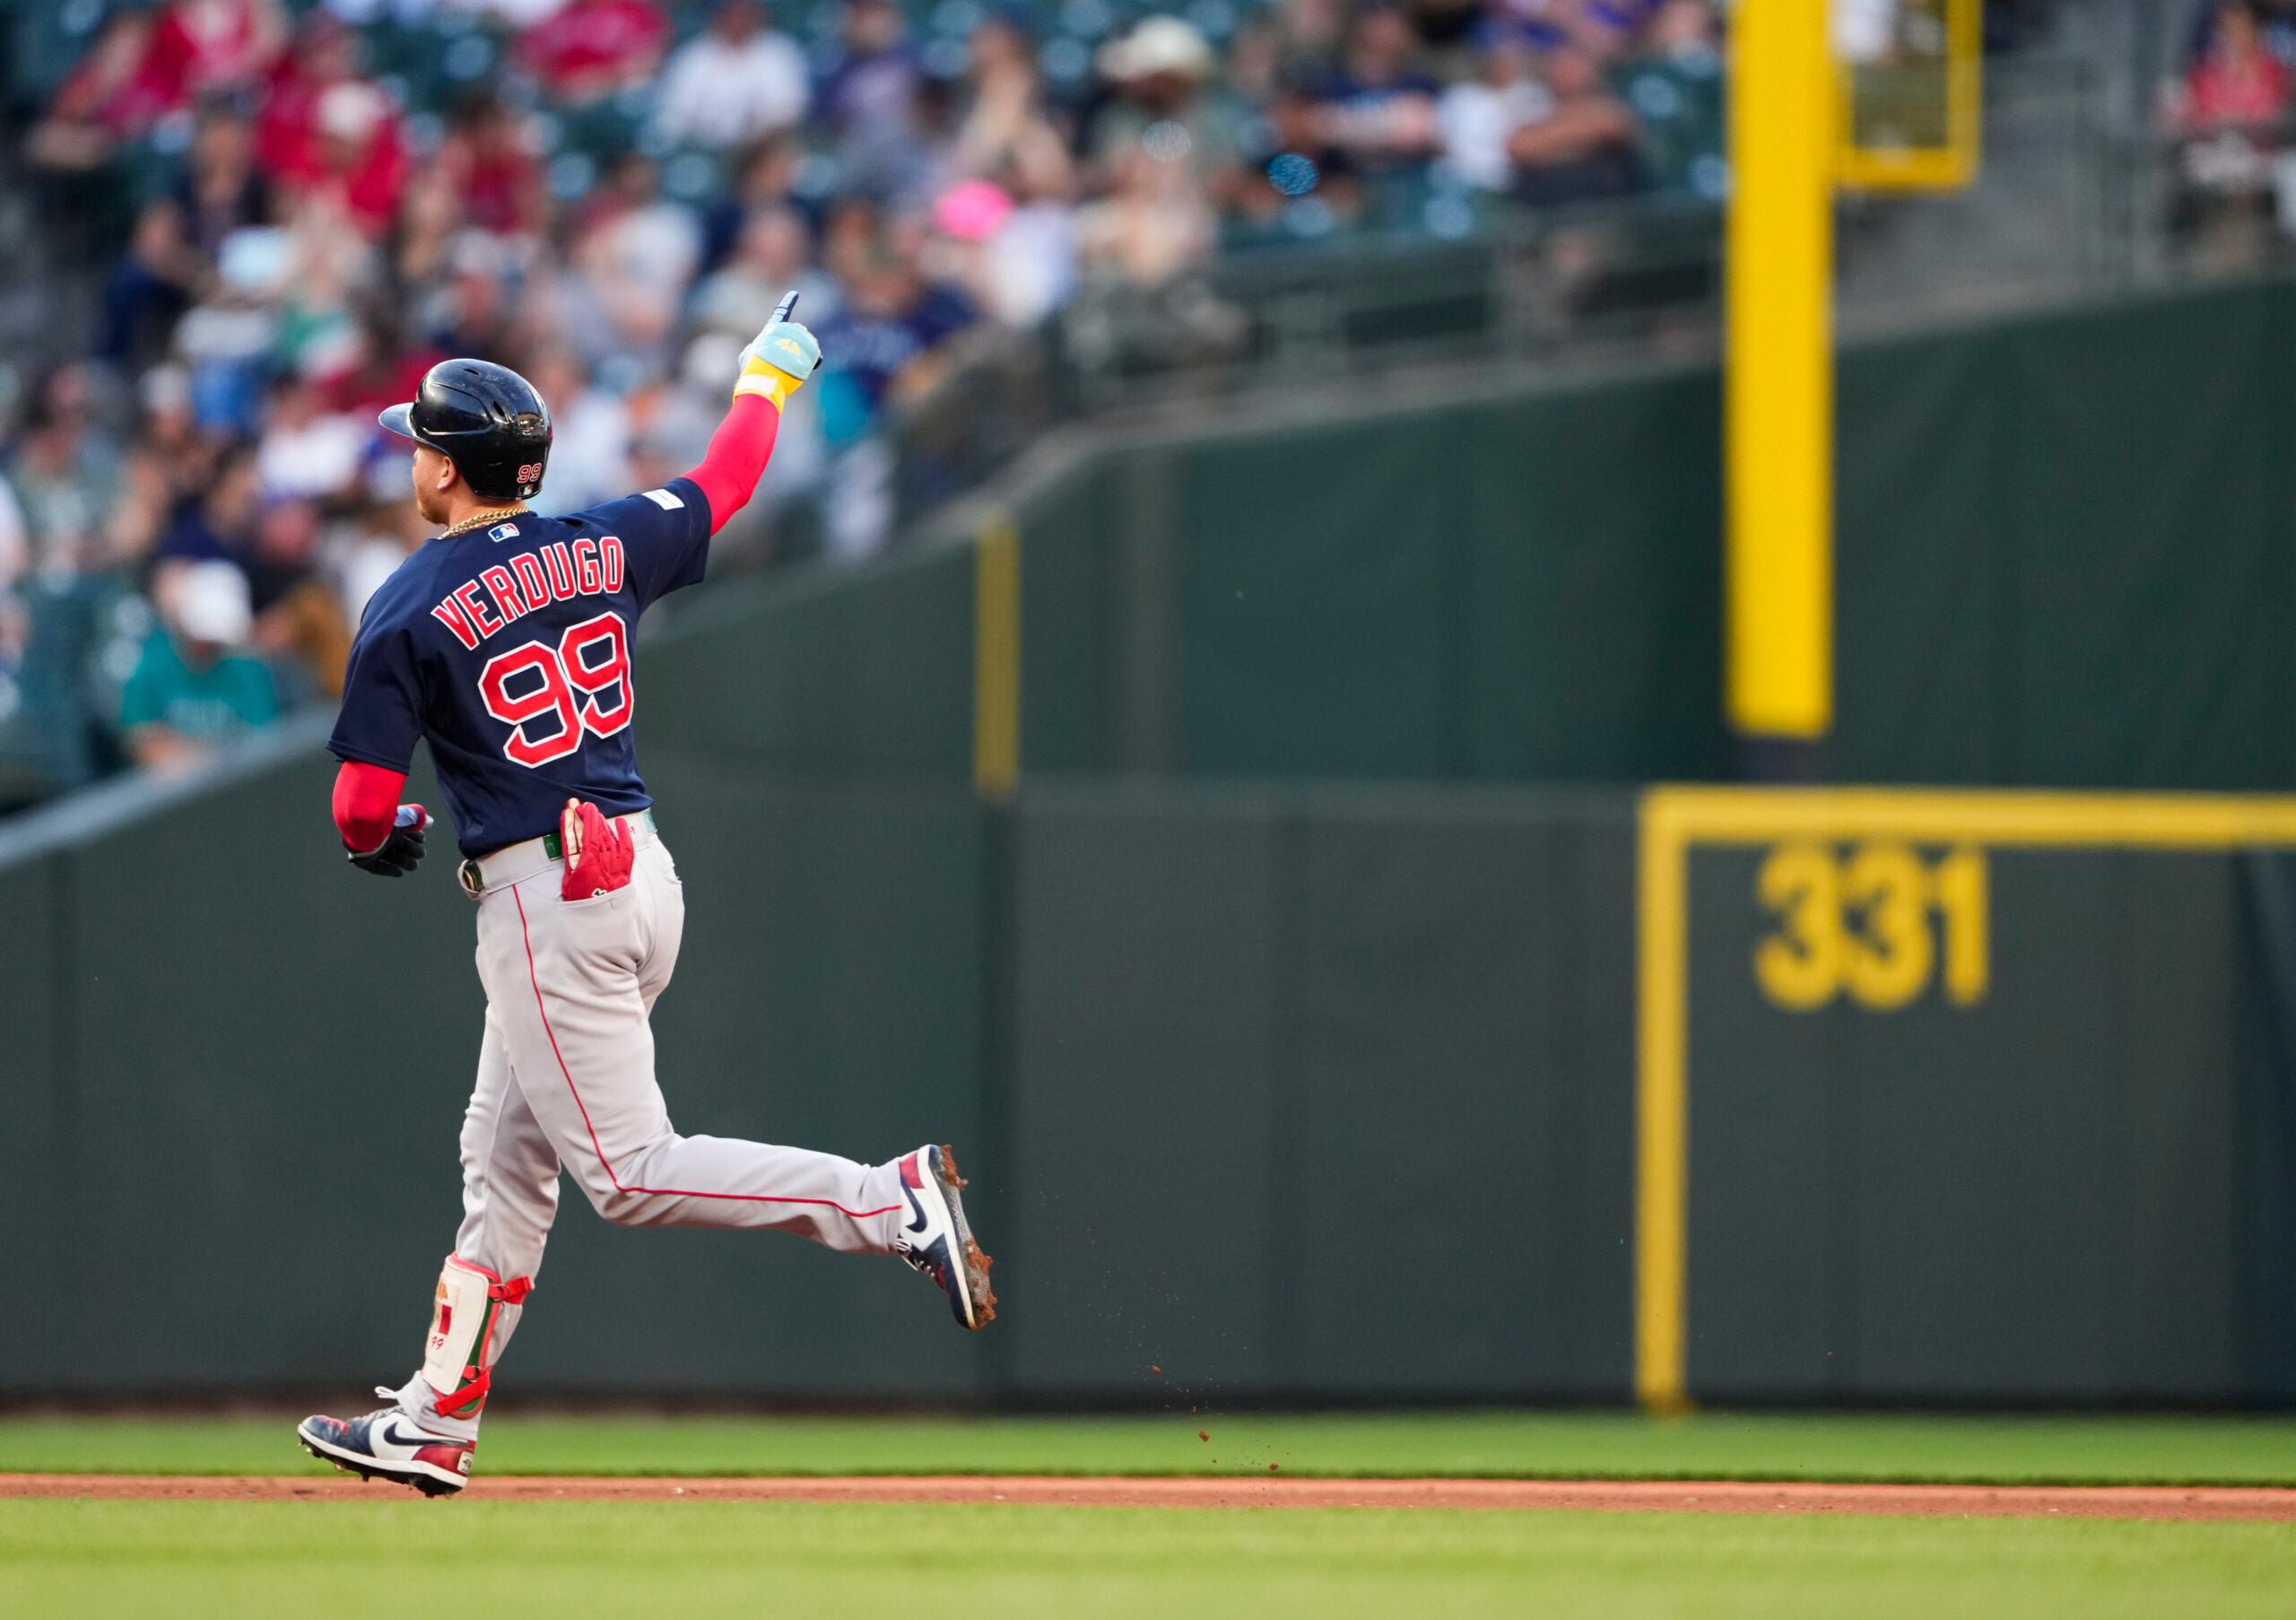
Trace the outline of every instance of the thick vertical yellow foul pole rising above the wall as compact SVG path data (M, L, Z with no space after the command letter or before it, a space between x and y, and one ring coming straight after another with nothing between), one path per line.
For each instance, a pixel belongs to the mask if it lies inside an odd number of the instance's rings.
M1835 717L1832 140L1825 0L1731 18L1724 476L1727 710L1740 735Z

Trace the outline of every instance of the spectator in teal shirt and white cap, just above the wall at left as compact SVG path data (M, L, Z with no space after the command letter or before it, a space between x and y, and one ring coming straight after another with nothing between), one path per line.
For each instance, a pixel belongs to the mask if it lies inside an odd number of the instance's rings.
M161 627L142 643L119 696L129 756L145 770L186 770L278 717L271 671L241 648L255 625L236 563L186 563L158 581Z

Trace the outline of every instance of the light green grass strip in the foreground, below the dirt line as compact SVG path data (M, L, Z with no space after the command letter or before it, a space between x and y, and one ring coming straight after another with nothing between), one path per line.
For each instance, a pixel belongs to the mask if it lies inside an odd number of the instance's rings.
M0 1503L9 1615L2287 1615L2296 1526L797 1503Z

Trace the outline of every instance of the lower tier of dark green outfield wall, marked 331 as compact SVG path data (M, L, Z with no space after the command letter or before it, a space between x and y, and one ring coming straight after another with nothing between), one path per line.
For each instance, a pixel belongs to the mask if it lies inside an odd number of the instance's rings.
M2296 1393L2291 802L647 774L680 1128L957 1142L1006 1314L569 1193L510 1388ZM326 779L0 866L0 1393L349 1397L416 1353L471 905L349 871Z

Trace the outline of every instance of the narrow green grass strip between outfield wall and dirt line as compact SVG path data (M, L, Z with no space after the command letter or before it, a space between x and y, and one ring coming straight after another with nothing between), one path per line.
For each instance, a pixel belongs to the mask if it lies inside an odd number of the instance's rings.
M0 1471L303 1473L292 1413L0 1418ZM1199 1441L1196 1432L1212 1438ZM496 1411L503 1473L1267 1473L2296 1484L2289 1418L1384 1413L638 1418ZM2296 1609L2296 1604L2291 1604Z

